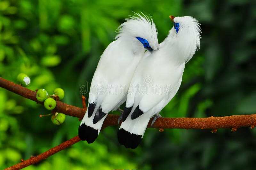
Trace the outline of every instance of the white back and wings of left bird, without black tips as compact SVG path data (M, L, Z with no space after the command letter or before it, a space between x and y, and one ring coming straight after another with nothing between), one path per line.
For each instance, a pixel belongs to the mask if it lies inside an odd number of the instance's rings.
M108 113L118 107L122 100L125 101L132 75L140 58L134 56L132 51L118 40L109 44L92 78L89 103L97 100L102 111Z

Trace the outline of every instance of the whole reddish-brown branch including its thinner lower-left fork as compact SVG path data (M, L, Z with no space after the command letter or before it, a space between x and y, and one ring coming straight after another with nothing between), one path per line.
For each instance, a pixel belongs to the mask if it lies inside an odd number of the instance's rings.
M26 89L18 84L15 84L11 81L5 80L0 77L0 87L12 91L20 96L26 97L37 103L43 104L42 102L38 102L36 99L36 92ZM85 97L82 96L83 108L79 108L76 106L68 105L66 103L57 101L57 106L54 109L56 112L61 112L69 116L74 116L78 118L83 118L86 112L86 104ZM119 116L108 114L107 118L102 125L102 129L111 125L117 125L117 120ZM251 115L236 115L236 116L225 116L225 117L208 117L208 118L158 118L156 119L153 126L151 126L151 121L148 123L148 128L160 128L161 131L164 128L185 128L185 129L212 129L212 132L216 132L218 128L232 128L232 131L236 131L237 128L248 127L254 128L256 125L256 114ZM31 157L26 161L23 161L19 164L11 166L9 168L17 169L23 168L28 165L39 162L54 153L61 151L68 146L77 143L80 141L78 136L61 143L60 145L40 154L36 157Z

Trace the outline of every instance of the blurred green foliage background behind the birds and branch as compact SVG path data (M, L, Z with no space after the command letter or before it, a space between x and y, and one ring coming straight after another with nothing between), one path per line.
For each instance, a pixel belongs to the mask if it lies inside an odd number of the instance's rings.
M200 50L188 62L178 94L164 117L209 117L256 111L255 1L0 1L0 76L31 78L28 89L60 87L63 101L82 107L80 87L90 85L115 30L134 12L152 15L162 42L169 15L193 16L202 27ZM85 94L88 97L88 93ZM54 126L42 105L0 89L0 169L40 154L77 135L67 116ZM252 169L256 130L147 129L136 150L125 149L118 127L92 143L79 142L25 169Z

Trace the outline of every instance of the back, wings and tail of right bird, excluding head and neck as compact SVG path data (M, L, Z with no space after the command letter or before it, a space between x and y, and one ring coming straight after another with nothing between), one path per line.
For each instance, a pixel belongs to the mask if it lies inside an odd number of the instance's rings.
M161 51L143 56L133 75L117 133L119 143L127 148L138 146L150 118L168 104L180 87L185 63L172 63L166 56L170 55Z

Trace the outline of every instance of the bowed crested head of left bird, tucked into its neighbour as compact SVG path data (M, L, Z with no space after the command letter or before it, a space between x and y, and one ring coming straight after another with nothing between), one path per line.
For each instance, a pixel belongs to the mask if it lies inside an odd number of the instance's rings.
M117 28L116 39L125 38L135 49L145 48L150 52L158 50L157 30L153 19L144 13L135 14L136 16L126 19L126 22Z

